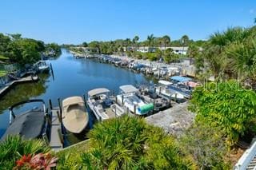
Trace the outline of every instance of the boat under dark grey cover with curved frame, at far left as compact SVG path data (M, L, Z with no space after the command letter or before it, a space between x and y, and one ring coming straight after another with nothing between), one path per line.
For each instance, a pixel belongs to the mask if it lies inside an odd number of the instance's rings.
M14 114L14 108L17 108L26 103L31 103L34 106L40 102L42 108L35 107L24 113ZM30 105L31 105L30 104ZM20 135L25 139L50 138L50 124L46 121L50 120L50 115L46 113L45 102L40 99L34 99L29 101L22 101L10 107L10 126L6 129L5 134L1 140L5 140L7 136Z

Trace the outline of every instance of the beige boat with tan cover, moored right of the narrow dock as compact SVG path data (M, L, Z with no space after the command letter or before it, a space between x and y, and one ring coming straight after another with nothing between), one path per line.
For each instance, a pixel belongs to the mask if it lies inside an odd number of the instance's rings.
M89 115L82 97L68 97L62 101L62 123L68 131L80 133L88 122Z

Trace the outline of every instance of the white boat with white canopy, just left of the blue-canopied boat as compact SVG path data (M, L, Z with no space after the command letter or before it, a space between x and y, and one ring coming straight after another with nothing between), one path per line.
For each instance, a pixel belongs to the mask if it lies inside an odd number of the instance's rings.
M174 91L173 89L168 88L168 86L173 85L170 81L158 81L158 87L156 87L156 93L163 95L165 97L174 99L174 100L183 100L185 97L182 93Z

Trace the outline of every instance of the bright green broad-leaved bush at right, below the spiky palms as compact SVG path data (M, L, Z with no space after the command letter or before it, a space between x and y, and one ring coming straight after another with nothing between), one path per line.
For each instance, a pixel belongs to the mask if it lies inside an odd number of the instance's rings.
M195 89L191 107L196 121L219 127L227 144L234 145L240 136L255 132L256 93L243 89L237 81L208 83Z

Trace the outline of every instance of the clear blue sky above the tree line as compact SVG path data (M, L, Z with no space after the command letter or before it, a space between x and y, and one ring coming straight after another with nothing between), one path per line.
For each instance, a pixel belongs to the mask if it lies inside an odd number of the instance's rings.
M229 26L253 26L255 0L1 0L0 32L74 43L149 34L209 38Z

